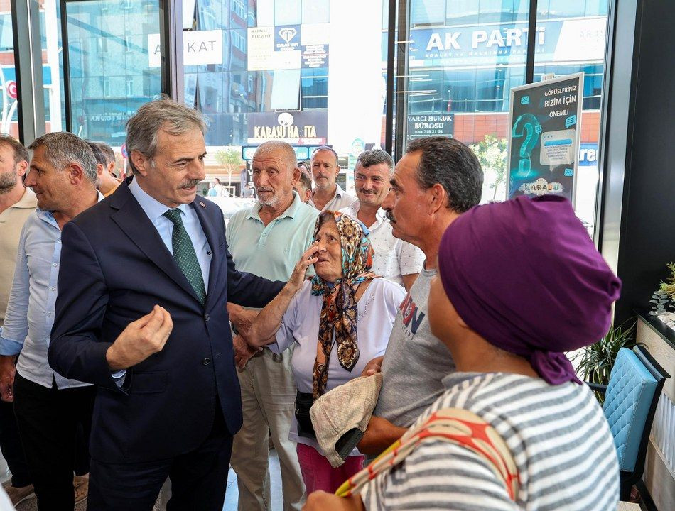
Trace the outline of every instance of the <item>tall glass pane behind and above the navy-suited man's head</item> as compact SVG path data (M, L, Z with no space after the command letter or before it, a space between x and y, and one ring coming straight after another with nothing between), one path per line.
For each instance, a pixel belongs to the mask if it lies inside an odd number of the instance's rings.
M88 0L66 10L72 131L119 148L126 121L161 95L158 2ZM200 85L208 109L222 91Z

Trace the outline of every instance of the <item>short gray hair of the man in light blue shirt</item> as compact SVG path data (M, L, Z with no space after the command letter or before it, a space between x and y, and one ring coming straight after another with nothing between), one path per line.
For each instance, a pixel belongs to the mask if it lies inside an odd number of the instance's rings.
M28 149L45 148L45 159L58 170L63 170L71 163L82 167L87 178L96 183L96 158L94 151L82 138L67 131L55 131L36 138Z

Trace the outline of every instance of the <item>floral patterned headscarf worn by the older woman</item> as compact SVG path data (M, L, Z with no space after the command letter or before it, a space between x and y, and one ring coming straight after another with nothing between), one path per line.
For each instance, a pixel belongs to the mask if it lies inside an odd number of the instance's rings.
M338 346L340 366L348 371L355 368L359 360L357 341L357 307L355 292L357 285L377 275L372 273L374 251L370 245L368 229L352 216L337 211L323 211L314 229L314 241L319 232L322 217L333 215L340 233L342 248L342 278L335 284L326 282L318 275L309 278L312 281L312 295L323 295L319 321L319 338L316 347L316 361L312 377L312 395L317 400L323 395L328 383L330 351L333 349L333 336Z

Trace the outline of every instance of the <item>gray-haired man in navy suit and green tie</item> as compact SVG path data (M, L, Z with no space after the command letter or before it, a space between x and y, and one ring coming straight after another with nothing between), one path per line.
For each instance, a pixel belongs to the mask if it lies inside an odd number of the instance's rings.
M170 100L127 123L134 172L63 229L50 365L95 383L87 509L222 510L242 424L227 302L283 287L234 268L205 178L202 116Z

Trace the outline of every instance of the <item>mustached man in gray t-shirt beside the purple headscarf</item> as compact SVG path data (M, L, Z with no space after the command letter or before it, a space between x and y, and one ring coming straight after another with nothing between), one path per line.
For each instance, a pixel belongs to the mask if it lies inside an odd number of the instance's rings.
M463 143L446 137L412 141L396 164L392 189L384 198L396 238L421 248L426 262L399 308L384 358L370 361L363 374L382 370L377 407L359 450L379 454L443 393L441 380L455 369L450 351L431 334L427 298L436 275L438 243L448 225L480 202L483 174Z

